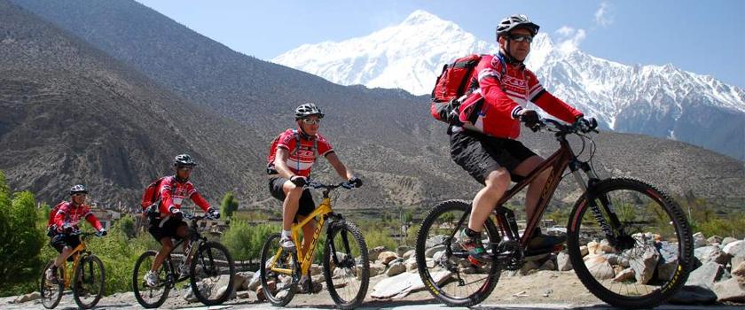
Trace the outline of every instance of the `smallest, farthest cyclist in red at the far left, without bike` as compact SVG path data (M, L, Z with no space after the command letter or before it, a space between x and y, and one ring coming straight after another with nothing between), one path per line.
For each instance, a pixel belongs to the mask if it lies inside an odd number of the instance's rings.
M54 266L46 271L46 277L51 283L57 283L58 267L65 263L73 249L80 244L80 236L77 236L76 233L80 232L78 224L83 219L98 230L98 236L106 236L106 229L98 221L96 215L90 212L90 206L85 205L87 195L88 190L85 189L85 186L75 185L70 189L71 201L59 203L50 213L50 245L59 252L57 259L54 260Z

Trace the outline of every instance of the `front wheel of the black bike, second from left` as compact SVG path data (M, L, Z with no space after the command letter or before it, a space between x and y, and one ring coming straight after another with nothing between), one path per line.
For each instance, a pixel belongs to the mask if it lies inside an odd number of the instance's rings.
M235 263L223 244L206 242L189 267L194 296L207 306L220 305L233 293Z

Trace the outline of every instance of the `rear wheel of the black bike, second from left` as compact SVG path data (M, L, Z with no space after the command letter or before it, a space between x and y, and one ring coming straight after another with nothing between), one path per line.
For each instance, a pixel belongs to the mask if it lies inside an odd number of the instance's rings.
M132 291L135 292L137 302L145 308L157 308L169 298L169 291L174 285L174 275L170 270L170 260L163 261L158 269L158 282L155 286L145 283L145 274L153 267L153 260L158 252L153 250L142 253L132 271Z

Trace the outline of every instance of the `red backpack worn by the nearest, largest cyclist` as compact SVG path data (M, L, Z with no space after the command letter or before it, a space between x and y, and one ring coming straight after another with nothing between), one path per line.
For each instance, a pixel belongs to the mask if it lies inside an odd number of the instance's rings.
M471 54L443 66L443 73L437 77L435 89L432 89L429 105L429 112L435 120L450 123L457 118L458 99L470 89L471 75L481 58L482 55Z

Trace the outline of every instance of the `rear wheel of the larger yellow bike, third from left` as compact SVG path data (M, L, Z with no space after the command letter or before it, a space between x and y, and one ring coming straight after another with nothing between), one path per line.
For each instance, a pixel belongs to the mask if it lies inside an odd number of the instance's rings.
M262 248L261 268L264 297L273 306L286 306L293 299L300 281L297 255L287 252L279 244L279 234L269 236Z

